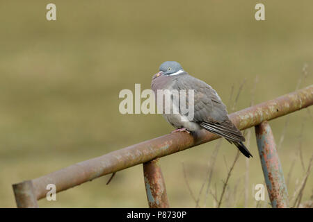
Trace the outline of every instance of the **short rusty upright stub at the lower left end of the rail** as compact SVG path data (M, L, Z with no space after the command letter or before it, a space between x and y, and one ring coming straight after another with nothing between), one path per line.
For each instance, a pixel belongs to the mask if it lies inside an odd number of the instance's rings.
M37 208L37 198L33 190L33 182L26 180L13 185L16 205L19 208Z

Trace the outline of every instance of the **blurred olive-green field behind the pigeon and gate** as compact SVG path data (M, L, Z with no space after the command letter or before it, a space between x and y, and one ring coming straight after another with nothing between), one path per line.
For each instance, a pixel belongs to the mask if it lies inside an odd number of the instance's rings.
M255 20L260 1L1 1L0 3L0 207L15 207L11 185L169 133L160 115L118 111L121 89L150 88L161 62L177 60L214 87L231 111L293 92L307 63L313 67L313 2L262 1L266 21ZM46 19L55 3L57 20ZM258 78L255 85L255 78ZM252 93L253 90L255 93ZM311 108L311 115L312 115ZM287 117L271 121L278 144ZM303 128L302 128L303 126ZM303 133L301 133L303 129ZM289 196L312 155L312 117L289 115L279 150ZM301 137L300 137L301 135ZM300 139L299 139L300 137ZM161 159L171 207L195 207L184 179L198 196L216 142ZM246 159L234 168L222 207L255 207L254 185L264 183L254 130L249 160L248 203L244 203ZM222 142L211 189L220 196L236 148ZM305 169L306 170L306 169ZM40 207L147 207L142 166L87 182L45 199ZM301 202L310 200L313 179ZM214 207L205 189L200 206ZM292 204L293 202L291 202ZM268 198L259 207L269 207Z

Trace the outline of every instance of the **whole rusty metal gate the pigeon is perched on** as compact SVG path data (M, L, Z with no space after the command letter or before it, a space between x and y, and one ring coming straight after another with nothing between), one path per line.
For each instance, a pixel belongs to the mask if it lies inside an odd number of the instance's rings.
M232 122L244 130L255 126L259 157L272 207L289 207L288 192L282 167L268 121L313 104L313 85L230 114ZM40 178L13 185L17 207L38 207L37 200L47 194L47 185L56 185L56 191L88 182L109 173L115 173L143 164L147 200L150 207L169 207L166 185L158 158L218 139L217 135L200 130L194 135L174 133L150 139L113 151L106 155L79 162Z

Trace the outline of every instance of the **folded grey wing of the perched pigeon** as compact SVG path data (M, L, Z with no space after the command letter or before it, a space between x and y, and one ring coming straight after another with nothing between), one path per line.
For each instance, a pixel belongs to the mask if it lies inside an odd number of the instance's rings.
M176 81L177 89L186 89L186 103L188 103L188 89L194 89L194 118L197 122L210 131L222 137L229 142L243 142L245 138L240 130L234 126L229 119L226 106L211 86L193 76L182 76Z

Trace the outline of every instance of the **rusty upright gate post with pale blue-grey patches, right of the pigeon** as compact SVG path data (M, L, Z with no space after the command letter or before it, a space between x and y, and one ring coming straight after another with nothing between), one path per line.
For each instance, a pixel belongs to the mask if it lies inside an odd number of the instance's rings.
M289 207L288 191L284 182L280 158L276 151L271 126L267 121L255 126L255 135L271 205L273 208Z

